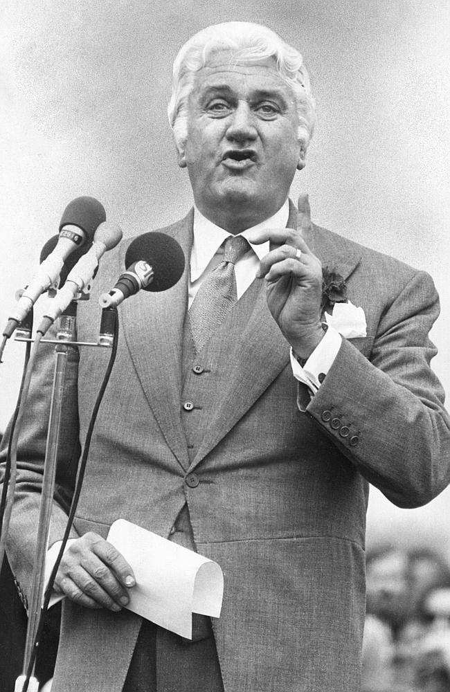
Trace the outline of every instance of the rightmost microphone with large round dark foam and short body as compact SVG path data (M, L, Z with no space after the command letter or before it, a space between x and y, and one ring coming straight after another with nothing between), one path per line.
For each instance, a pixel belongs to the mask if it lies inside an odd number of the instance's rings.
M152 231L136 238L125 254L127 270L109 293L102 293L100 307L117 307L125 298L144 291L166 291L179 281L184 271L184 255L170 235Z

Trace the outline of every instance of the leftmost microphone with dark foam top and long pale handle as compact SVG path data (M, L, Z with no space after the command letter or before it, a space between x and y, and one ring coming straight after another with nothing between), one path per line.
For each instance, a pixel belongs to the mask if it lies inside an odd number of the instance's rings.
M14 311L8 318L8 325L3 331L3 336L9 338L12 335L19 322L24 320L33 307L39 295L55 284L67 257L78 248L90 244L96 228L105 219L105 209L93 197L77 197L66 206L60 222L60 235L57 237L57 243L48 256L44 257L37 273L21 294ZM42 254L46 250L46 246L47 244L44 246Z

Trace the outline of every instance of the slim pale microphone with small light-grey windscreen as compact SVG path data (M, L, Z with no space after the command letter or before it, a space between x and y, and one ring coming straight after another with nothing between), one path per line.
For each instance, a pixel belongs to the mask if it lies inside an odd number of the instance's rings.
M85 255L80 257L80 260L75 264L69 272L66 282L62 289L57 291L53 298L51 309L48 310L37 331L42 335L46 334L48 328L60 316L60 314L69 307L72 300L83 291L89 288L93 276L95 275L98 262L101 257L116 245L122 239L122 230L119 226L110 226L102 223L98 226L93 236L93 244Z

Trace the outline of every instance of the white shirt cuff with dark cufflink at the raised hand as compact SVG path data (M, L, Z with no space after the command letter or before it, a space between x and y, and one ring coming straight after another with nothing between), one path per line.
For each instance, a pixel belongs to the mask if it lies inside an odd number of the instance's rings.
M321 343L314 349L303 367L298 363L291 349L292 374L296 380L307 385L312 394L317 392L333 365L341 348L341 343L342 337L339 331L333 327L328 327Z

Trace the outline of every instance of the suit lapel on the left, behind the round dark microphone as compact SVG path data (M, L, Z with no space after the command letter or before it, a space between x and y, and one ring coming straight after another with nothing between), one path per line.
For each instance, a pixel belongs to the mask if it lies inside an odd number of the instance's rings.
M168 291L141 291L123 304L123 331L138 379L168 446L179 464L188 467L188 448L181 424L181 347L188 304L188 275L193 212L163 228L183 250L183 276ZM125 249L123 255L125 255ZM123 266L123 264L122 264Z

